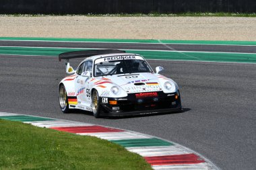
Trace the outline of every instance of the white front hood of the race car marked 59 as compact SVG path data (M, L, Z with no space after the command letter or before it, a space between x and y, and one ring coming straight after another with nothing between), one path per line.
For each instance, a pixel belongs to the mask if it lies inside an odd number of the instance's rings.
M158 77L154 73L111 75L107 78L119 85L126 93L162 91Z

